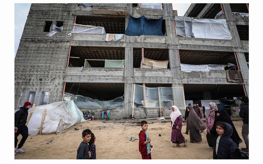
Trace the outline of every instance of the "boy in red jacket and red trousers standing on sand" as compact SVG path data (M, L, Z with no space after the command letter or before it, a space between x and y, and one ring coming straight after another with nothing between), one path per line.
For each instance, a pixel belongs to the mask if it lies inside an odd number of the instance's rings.
M141 121L141 128L142 130L139 133L139 151L142 154L142 159L152 159L151 148L153 148L153 146L150 144L151 139L146 133L148 130L147 121Z

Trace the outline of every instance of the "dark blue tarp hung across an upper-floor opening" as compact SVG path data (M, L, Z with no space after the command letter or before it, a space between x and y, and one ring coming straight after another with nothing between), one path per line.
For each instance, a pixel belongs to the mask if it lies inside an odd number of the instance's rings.
M162 33L162 18L151 20L145 16L134 18L130 16L125 35L159 35Z

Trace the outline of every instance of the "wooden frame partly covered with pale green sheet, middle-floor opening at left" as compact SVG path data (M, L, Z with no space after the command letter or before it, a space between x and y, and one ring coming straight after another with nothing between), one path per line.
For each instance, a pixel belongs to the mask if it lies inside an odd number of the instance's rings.
M85 59L84 67L91 67L88 60L105 61L105 68L124 68L125 60Z

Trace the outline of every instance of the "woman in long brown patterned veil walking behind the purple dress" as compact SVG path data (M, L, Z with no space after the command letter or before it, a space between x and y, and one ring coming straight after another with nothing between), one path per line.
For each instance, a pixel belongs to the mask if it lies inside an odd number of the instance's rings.
M190 132L190 142L201 142L202 135L199 131L205 130L206 126L205 123L197 116L195 110L192 106L188 106L189 108L189 115L188 115L188 126Z

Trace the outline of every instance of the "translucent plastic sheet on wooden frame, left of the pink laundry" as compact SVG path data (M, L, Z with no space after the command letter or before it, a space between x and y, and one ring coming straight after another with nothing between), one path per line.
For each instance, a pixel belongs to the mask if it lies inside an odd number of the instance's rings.
M105 34L104 27L90 26L90 25L79 25L74 24L75 26L71 30L71 33L97 33L97 34ZM73 32L74 30L74 32ZM68 35L70 35L69 33Z

